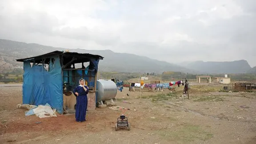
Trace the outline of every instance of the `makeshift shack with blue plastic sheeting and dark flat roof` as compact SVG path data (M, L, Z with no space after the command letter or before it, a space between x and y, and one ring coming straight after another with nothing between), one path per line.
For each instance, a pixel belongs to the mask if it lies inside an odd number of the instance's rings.
M16 61L24 63L23 104L49 104L63 113L63 90L72 91L79 79L96 95L98 64L104 57L88 53L54 51ZM84 63L89 63L87 67ZM81 63L82 68L75 68ZM96 103L95 103L96 105Z

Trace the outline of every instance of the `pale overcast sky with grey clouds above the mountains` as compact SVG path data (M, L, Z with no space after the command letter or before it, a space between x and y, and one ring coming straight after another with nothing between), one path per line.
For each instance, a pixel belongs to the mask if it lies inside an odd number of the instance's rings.
M256 0L0 0L0 39L254 67Z

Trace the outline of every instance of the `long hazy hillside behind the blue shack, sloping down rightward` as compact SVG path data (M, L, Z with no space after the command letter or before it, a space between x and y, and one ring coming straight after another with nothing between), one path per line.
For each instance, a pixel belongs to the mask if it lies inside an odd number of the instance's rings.
M55 50L65 50L67 48L54 48L51 46L44 46L40 44L27 44L12 40L0 39L0 62L4 67L2 71L13 67L22 66L22 63L16 62L15 59L25 58L31 56L38 56L44 53L52 52ZM91 53L104 57L100 60L99 70L105 72L156 72L161 73L164 71L193 71L183 68L176 64L168 62L153 60L145 56L137 56L128 53L116 53L111 50L85 50L85 49L68 49L70 52Z

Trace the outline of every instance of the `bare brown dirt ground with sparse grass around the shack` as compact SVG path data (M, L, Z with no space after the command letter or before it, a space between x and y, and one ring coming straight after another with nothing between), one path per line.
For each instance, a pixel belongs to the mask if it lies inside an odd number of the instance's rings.
M124 88L116 104L130 109L131 130L115 131L121 111L96 108L83 123L74 115L40 119L16 108L22 87L0 87L0 144L256 144L255 93L192 91L188 100L179 92L143 92L140 100Z

